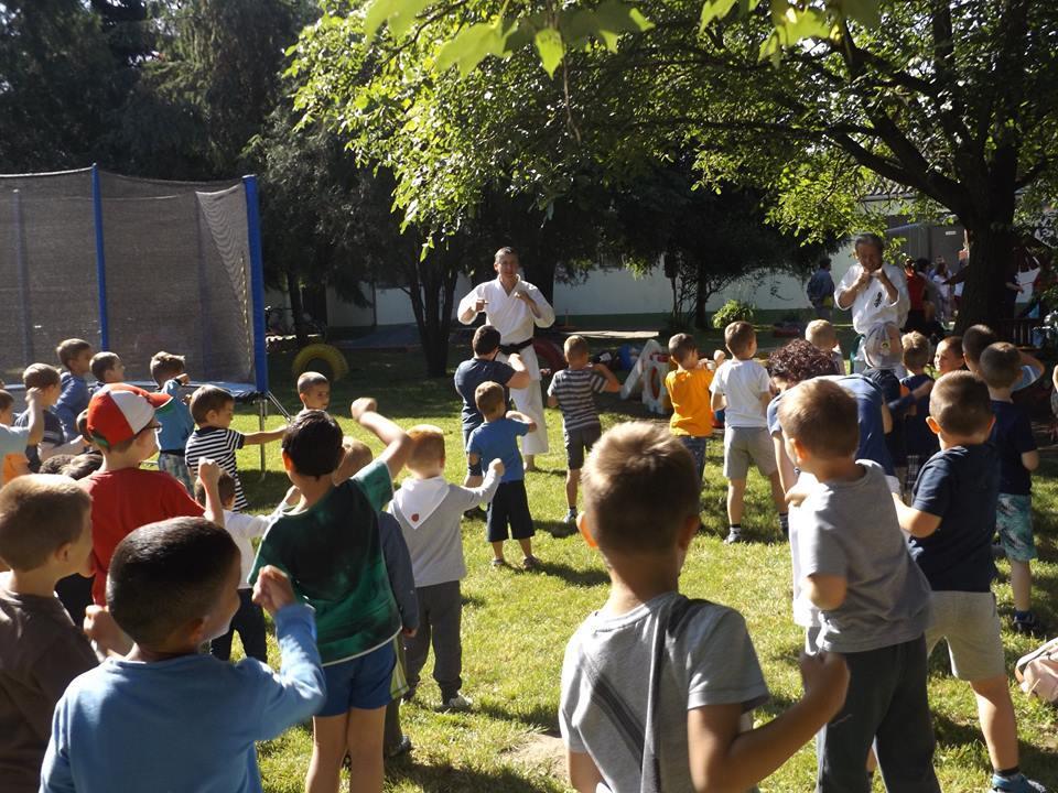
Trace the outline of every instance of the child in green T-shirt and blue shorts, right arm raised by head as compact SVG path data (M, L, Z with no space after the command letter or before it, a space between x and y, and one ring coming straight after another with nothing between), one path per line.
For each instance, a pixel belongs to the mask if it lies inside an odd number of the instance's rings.
M411 439L376 412L374 400L353 403L354 421L387 445L381 456L349 478L334 475L350 455L342 428L323 411L296 416L283 435L283 467L301 492L264 534L251 579L266 565L283 569L299 597L316 610L316 644L326 700L312 720L306 790L338 790L346 754L354 790L382 790L382 734L400 617L378 532L378 512L392 496ZM343 464L339 466L339 464Z

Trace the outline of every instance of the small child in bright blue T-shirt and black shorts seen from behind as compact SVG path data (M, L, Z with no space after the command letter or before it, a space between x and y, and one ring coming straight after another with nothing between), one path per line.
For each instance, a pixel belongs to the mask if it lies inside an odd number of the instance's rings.
M485 518L485 536L493 544L493 567L505 567L504 541L507 528L510 536L521 545L527 571L539 569L540 560L532 555L532 515L529 513L529 497L526 495L526 474L518 452L518 436L527 435L537 426L529 416L508 411L504 401L504 387L497 382L483 382L474 393L477 409L485 423L471 433L466 444L466 459L471 465L487 467L494 459L504 464L504 475L496 495L488 504Z

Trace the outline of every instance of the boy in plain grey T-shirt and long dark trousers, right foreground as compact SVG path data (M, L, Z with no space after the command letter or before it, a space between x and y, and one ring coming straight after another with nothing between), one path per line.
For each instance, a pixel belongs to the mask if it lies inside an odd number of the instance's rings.
M850 671L845 704L819 734L816 790L867 791L873 743L887 790L939 793L926 698L929 584L907 553L883 468L856 460L856 400L809 380L786 391L778 413L787 454L817 481L790 535L795 601L818 609L807 645L842 653Z

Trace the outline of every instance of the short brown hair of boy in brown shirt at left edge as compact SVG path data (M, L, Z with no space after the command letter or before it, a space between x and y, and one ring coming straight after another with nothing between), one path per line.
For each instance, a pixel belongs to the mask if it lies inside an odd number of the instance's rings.
M0 560L31 571L85 531L91 497L73 479L29 474L0 490Z

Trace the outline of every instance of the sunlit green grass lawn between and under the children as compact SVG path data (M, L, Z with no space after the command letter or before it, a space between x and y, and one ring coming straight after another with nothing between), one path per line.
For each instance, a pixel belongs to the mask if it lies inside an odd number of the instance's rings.
M703 335L703 340L704 340ZM712 334L708 335L710 338ZM453 350L457 361L462 350ZM288 406L296 404L287 369L289 357L272 360L272 382ZM352 374L334 387L332 408L350 434L364 439L363 432L345 417L354 397L374 395L379 410L404 426L430 422L445 430L449 437L446 474L452 480L463 476L460 450L458 405L450 379L424 380L418 354L353 354ZM645 417L640 405L616 398L600 398L603 423L612 426L629 417ZM271 417L269 426L278 425ZM236 427L253 428L255 416L241 413ZM469 791L482 793L564 791L561 767L552 771L546 763L526 763L516 750L535 734L557 735L557 707L562 654L566 641L584 617L598 608L606 597L607 577L601 560L579 536L552 536L565 512L561 421L557 411L548 412L551 453L538 458L543 470L531 474L527 486L537 522L536 552L544 563L543 573L488 567L488 548L481 520L464 523L464 546L469 573L463 583L464 692L474 699L469 714L436 711L440 693L433 684L431 665L423 670L423 683L417 700L401 709L404 731L414 742L414 751L387 764L388 791ZM378 449L379 444L373 443ZM270 508L282 496L287 481L282 475L278 445L267 449L268 470L257 471L257 449L240 453L239 466L250 502L260 510ZM681 579L682 590L737 608L746 618L771 689L773 700L757 713L759 719L774 717L800 696L797 655L801 632L790 619L790 563L788 546L779 542L768 489L758 476L751 476L744 525L755 541L725 546L721 537L726 519L720 507L725 489L721 474L722 445L710 444L705 475L702 531L691 546ZM1056 461L1044 453L1041 472L1036 477L1035 522L1041 560L1034 566L1034 598L1040 617L1058 627L1054 596L1058 593L1058 554L1055 548L1055 511L1058 487ZM511 547L509 557L520 555ZM996 594L1003 612L1011 609L1010 569L1000 564ZM271 640L270 640L271 641ZM1007 664L1028 652L1037 642L1004 632ZM273 664L278 664L274 643ZM990 771L980 735L973 697L967 684L947 672L947 658L938 651L931 664L930 704L938 736L936 756L941 786L948 792L980 791ZM1026 698L1013 688L1019 734L1022 764L1050 787L1058 786L1058 711ZM261 745L261 771L269 793L301 791L311 751L309 727L289 730L281 738ZM814 780L814 752L805 747L778 772L762 784L763 791L802 792ZM876 783L876 790L882 790Z

